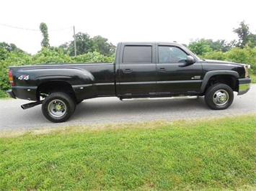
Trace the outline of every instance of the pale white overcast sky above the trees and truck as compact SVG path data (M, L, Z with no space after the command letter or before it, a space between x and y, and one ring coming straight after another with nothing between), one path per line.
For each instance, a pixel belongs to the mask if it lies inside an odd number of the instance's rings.
M30 54L41 49L39 26L45 22L51 46L73 39L75 32L118 42L179 42L238 39L245 21L256 34L252 0L8 0L1 1L0 42Z

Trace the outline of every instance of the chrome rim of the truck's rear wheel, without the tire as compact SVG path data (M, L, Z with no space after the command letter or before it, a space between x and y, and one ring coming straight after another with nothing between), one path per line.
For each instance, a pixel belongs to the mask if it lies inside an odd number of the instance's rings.
M48 112L53 117L61 117L66 113L66 104L61 100L53 100L48 104Z

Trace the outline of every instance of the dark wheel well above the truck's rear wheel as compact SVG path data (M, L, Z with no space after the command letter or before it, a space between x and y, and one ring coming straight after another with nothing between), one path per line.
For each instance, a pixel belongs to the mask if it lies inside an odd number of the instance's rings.
M53 92L66 92L75 98L74 90L70 83L53 81L42 83L37 87L37 100L40 100L40 96L45 98L47 95Z

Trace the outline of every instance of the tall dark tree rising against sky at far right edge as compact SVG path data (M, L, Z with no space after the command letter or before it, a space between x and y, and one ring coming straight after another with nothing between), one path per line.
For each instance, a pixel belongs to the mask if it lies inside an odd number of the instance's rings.
M234 29L233 32L237 33L239 41L237 47L244 48L246 45L249 47L256 46L256 34L252 34L249 30L249 25L242 21L240 27Z

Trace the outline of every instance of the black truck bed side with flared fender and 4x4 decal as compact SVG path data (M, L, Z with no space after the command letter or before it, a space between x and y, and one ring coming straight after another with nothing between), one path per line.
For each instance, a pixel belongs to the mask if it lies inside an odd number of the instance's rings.
M69 83L79 100L115 95L112 63L45 64L15 66L9 69L14 74L12 91L21 99L37 101L38 87L45 83L58 82Z

